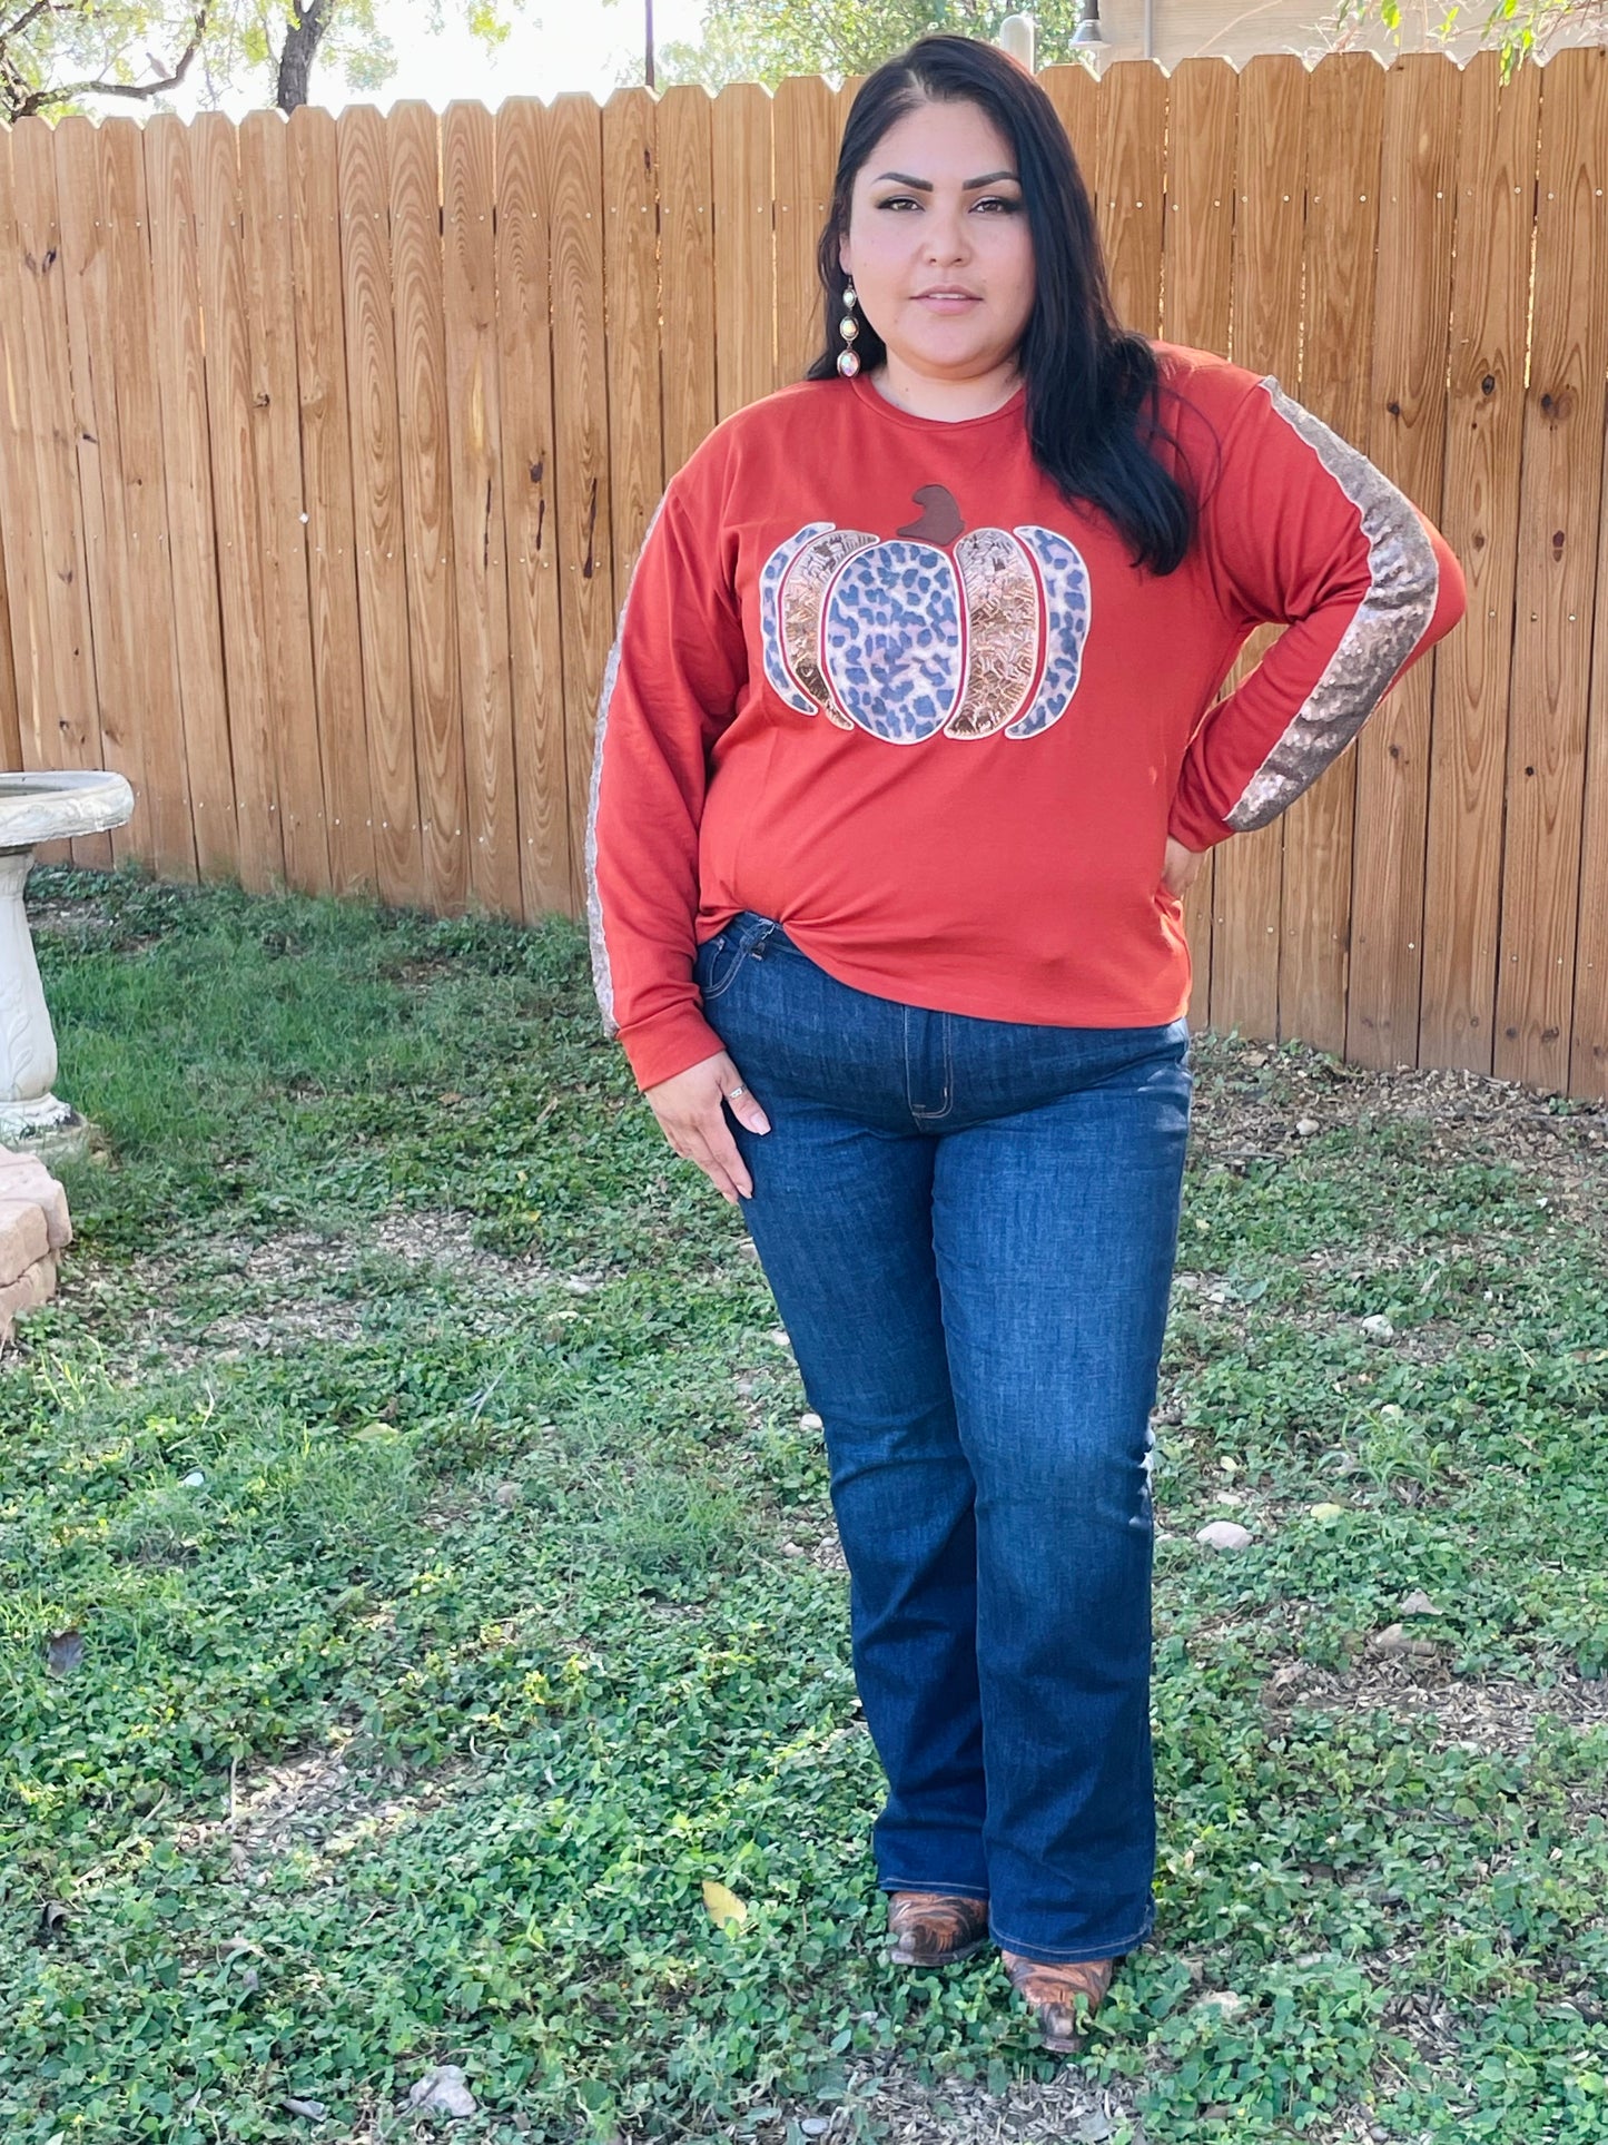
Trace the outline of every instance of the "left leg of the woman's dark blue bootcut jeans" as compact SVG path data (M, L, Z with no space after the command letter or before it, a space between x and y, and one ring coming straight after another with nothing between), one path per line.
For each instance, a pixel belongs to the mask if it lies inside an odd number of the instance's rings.
M984 1898L976 1491L933 1274L930 1143L778 1107L785 1145L759 1141L748 1221L823 1422L855 1688L888 1774L877 1879Z

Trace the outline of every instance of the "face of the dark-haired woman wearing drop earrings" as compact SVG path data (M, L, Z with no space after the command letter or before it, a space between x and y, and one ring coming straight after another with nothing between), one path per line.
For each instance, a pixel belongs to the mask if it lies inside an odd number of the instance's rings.
M1016 350L1033 240L1010 142L973 103L924 103L860 167L838 247L890 360L973 380Z

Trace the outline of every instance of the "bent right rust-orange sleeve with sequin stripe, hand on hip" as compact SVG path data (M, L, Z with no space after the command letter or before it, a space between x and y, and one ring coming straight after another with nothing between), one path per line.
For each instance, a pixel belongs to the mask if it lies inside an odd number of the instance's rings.
M1466 609L1439 530L1271 375L1226 429L1201 534L1241 639L1286 631L1190 740L1168 817L1188 849L1286 811Z

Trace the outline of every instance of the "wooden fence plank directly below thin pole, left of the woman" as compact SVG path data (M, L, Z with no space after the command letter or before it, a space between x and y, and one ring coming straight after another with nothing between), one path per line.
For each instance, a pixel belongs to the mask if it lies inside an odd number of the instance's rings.
M602 107L602 287L609 309L605 363L613 586L622 601L665 489L656 180L654 99L647 90L615 90Z

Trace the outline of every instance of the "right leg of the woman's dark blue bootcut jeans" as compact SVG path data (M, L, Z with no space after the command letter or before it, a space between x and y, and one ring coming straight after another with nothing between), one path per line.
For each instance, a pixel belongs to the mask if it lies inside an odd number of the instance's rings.
M937 1152L943 1330L978 1484L991 1933L1025 1958L1113 1958L1153 1926L1149 1414L1186 1034Z

